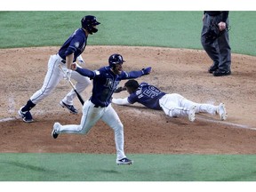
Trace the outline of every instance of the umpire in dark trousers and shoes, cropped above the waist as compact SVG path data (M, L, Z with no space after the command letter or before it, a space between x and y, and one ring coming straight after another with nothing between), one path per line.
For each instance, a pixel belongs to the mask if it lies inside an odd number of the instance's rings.
M220 33L220 36L209 37L209 31L211 31L212 26L216 27L217 33ZM228 11L204 12L201 43L204 51L207 52L213 61L208 72L213 74L213 76L230 75L231 48L228 38Z

